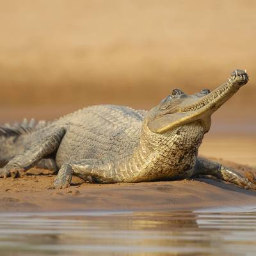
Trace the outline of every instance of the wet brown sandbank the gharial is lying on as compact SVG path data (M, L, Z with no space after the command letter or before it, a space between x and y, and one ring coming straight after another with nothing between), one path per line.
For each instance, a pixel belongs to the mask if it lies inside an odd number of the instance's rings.
M256 169L222 161L239 172ZM0 179L1 212L34 211L178 211L205 207L256 205L256 191L218 179L191 179L138 184L90 184L73 177L67 189L47 189L54 175Z

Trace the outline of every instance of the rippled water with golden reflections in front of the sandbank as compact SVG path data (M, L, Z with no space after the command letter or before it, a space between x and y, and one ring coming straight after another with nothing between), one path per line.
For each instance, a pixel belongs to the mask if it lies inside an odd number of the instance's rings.
M253 208L0 214L1 256L255 255L255 237Z

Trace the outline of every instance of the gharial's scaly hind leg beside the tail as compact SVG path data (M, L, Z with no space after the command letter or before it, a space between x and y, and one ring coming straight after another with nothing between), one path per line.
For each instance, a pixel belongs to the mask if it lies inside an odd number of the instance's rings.
M42 140L31 145L31 147L24 150L22 154L13 157L13 159L6 164L6 166L0 168L0 178L9 177L11 175L11 170L28 170L29 168L35 166L36 163L38 163L41 159L57 150L64 134L64 128L49 131L48 136L45 136L45 138Z

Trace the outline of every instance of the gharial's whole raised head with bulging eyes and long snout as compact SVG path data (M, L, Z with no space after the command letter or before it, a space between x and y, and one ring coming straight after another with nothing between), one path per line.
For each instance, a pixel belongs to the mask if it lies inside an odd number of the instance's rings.
M174 89L171 95L148 113L148 128L163 133L180 125L201 122L204 131L211 127L211 115L226 102L241 86L248 82L246 71L235 70L226 83L210 92L204 89L194 95L187 95Z

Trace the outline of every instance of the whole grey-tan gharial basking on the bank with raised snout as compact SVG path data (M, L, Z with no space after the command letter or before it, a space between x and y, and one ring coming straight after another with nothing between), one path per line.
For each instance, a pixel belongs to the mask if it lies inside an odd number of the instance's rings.
M90 106L52 122L0 127L0 177L36 164L58 166L54 188L72 174L100 183L174 180L212 175L243 188L256 185L232 168L198 157L211 115L248 82L232 72L216 90L187 95L179 89L150 111ZM13 172L15 173L15 172ZM17 173L17 172L16 172Z

